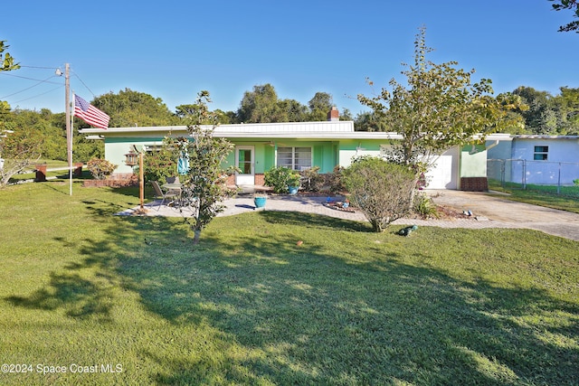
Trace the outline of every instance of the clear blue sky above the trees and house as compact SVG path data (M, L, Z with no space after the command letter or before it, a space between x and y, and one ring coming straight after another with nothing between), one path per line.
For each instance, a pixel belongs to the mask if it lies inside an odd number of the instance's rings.
M421 25L430 60L475 69L495 93L579 87L579 34L556 31L572 13L546 0L35 0L2 14L0 40L23 65L0 73L12 108L64 111L54 71L68 62L71 89L89 101L132 89L174 111L207 89L212 109L237 110L244 91L271 83L280 99L327 92L356 115L366 77L378 89L404 80Z

